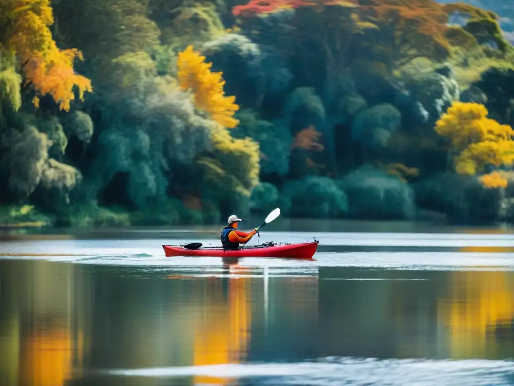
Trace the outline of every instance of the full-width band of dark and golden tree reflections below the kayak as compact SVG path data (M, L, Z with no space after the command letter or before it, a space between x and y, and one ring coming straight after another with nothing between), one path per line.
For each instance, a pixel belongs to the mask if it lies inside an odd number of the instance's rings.
M264 279L262 271L236 264L215 271L213 277L166 276L134 268L0 261L0 379L7 380L2 386L162 382L99 381L77 372L83 367L331 355L501 359L514 349L509 272L320 268L319 276ZM167 384L234 382L195 377Z

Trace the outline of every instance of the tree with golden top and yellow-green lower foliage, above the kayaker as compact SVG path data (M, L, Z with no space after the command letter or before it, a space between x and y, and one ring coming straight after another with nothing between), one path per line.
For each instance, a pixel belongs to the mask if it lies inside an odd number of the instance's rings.
M206 186L209 184L222 192L222 197L212 199L227 204L242 202L230 199L234 196L249 199L252 188L259 182L259 145L249 137L234 138L228 129L235 128L240 121L234 118L239 110L235 97L225 96L223 73L210 71L212 63L206 63L205 57L188 46L179 52L178 84L183 91L193 95L197 110L206 113L213 120L210 137L213 144L211 151L198 156L198 165L203 170Z

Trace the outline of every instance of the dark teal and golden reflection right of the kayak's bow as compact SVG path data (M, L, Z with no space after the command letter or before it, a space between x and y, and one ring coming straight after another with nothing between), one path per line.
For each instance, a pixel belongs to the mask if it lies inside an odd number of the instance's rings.
M510 272L320 268L321 356L510 358L513 280Z

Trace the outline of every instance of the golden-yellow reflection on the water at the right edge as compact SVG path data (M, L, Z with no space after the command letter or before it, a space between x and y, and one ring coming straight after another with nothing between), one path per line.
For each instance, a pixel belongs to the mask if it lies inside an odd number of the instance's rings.
M498 355L497 331L514 320L514 282L509 272L452 272L450 294L437 304L453 358Z

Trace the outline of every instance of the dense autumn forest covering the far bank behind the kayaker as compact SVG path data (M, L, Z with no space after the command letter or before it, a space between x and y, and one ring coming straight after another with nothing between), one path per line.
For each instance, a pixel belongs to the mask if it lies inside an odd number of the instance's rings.
M0 220L208 224L279 205L512 221L514 47L497 8L2 0Z

